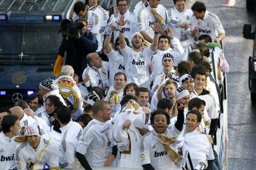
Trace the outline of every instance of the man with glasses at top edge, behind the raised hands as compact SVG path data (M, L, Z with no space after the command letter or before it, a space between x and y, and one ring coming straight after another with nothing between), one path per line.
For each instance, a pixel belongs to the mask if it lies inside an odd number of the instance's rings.
M129 0L117 0L116 6L114 7L114 14L110 17L111 23L117 23L118 19L121 15L124 15L124 20L127 20L126 23L126 31L124 32L124 36L129 39L129 42L132 41L132 34L137 32L137 22L134 16L134 13L130 12L129 10ZM114 31L114 42L116 41L117 37L119 37L119 31Z

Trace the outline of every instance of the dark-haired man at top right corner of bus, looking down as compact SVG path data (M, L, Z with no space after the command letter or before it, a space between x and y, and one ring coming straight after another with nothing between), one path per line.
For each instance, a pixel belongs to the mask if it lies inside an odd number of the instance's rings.
M195 1L191 9L194 14L191 19L191 36L197 38L201 34L208 34L211 39L220 43L225 38L225 30L218 16L208 12L203 2Z

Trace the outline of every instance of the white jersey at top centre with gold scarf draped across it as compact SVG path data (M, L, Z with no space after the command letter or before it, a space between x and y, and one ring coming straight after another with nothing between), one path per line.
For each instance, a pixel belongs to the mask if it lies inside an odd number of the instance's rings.
M167 10L164 6L159 4L155 10L158 14L161 15L161 17L164 18L164 20L167 19ZM135 15L135 17L137 17L139 32L145 31L153 39L155 32L151 28L151 25L154 25L154 23L157 22L157 20L155 16L152 14L152 12L143 5L138 10L137 15Z

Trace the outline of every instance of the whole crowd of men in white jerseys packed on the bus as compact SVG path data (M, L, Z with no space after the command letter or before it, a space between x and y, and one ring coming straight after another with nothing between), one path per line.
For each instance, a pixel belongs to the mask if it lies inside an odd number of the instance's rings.
M2 110L0 169L220 168L225 31L203 2L173 1L130 12L117 0L110 18L98 1L77 2L85 9L70 17L87 20L109 62L90 53L81 83L65 65L27 103Z

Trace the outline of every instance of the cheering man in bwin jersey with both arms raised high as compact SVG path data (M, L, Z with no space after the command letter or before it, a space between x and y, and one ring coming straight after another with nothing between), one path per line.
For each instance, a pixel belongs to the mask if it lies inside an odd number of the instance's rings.
M150 47L143 49L143 36L140 33L134 33L132 36L132 48L128 47L124 39L124 25L126 21L124 16L120 17L119 25L121 31L119 33L120 49L124 56L124 63L126 67L127 83L135 83L139 87L147 87L150 89L150 72L149 64L151 56L155 53L158 44L158 33L160 25L155 23L151 29L155 31L153 42Z

